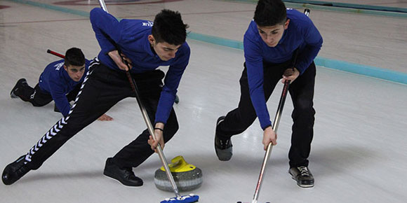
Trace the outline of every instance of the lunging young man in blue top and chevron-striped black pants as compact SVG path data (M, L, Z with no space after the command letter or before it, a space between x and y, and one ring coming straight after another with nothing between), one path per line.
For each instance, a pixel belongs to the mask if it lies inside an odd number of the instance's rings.
M27 154L4 169L4 184L11 185L30 170L38 169L60 146L114 104L135 97L125 71L135 78L141 100L154 123L156 141L145 130L107 159L104 174L126 186L142 186L142 179L135 176L132 168L149 158L158 143L164 147L164 142L177 132L173 102L190 55L185 42L187 25L180 13L161 10L154 23L126 19L119 22L100 8L91 10L90 17L101 51L89 66L78 99L67 117L51 127ZM163 71L156 70L159 66L169 66L165 78Z

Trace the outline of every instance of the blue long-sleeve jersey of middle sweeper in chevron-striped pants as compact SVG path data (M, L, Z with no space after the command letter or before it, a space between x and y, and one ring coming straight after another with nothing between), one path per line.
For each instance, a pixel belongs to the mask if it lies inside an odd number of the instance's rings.
M180 46L175 58L163 61L152 51L148 41L148 36L152 34L153 22L128 19L119 22L114 16L106 13L101 8L93 8L91 10L91 23L102 49L99 52L98 59L109 68L121 71L107 55L108 52L117 49L131 59L133 64L131 72L133 73L152 71L159 66L169 66L164 78L164 87L155 118L156 123L165 124L171 113L182 74L189 62L190 50L188 44L185 42Z

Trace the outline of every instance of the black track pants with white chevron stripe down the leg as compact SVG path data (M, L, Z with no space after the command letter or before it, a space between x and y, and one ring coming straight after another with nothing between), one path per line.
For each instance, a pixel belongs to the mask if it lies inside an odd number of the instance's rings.
M140 97L149 117L154 119L164 72L149 71L132 74L132 77L137 81ZM66 141L126 97L135 97L126 73L114 71L96 60L93 61L68 116L59 120L31 148L25 158L27 167L29 169L41 167ZM140 125L145 125L145 123L140 123ZM178 121L172 110L164 127L164 140L171 139L177 130ZM135 141L124 147L116 154L114 162L121 167L137 167L152 155L154 151L147 143L147 134L146 131L143 132Z

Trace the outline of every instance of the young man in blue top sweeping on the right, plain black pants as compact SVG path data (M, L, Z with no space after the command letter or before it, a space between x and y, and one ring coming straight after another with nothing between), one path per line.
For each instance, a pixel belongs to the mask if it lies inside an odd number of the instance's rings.
M289 92L294 110L293 134L288 154L289 172L301 187L314 186L308 169L314 127L314 58L322 45L322 37L312 21L303 13L286 9L281 0L260 0L254 19L243 38L246 62L240 78L239 106L218 118L215 130L215 152L219 160L232 158L231 137L245 131L259 118L265 150L276 145L276 132L266 102L282 78L291 80ZM296 51L298 56L296 61Z

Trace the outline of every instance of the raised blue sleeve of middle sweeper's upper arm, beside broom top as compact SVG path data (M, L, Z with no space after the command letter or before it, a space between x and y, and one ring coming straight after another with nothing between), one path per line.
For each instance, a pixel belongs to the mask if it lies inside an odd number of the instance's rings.
M102 51L107 53L116 50L115 45L120 41L121 36L119 21L102 8L93 8L90 18L92 29L95 31Z

